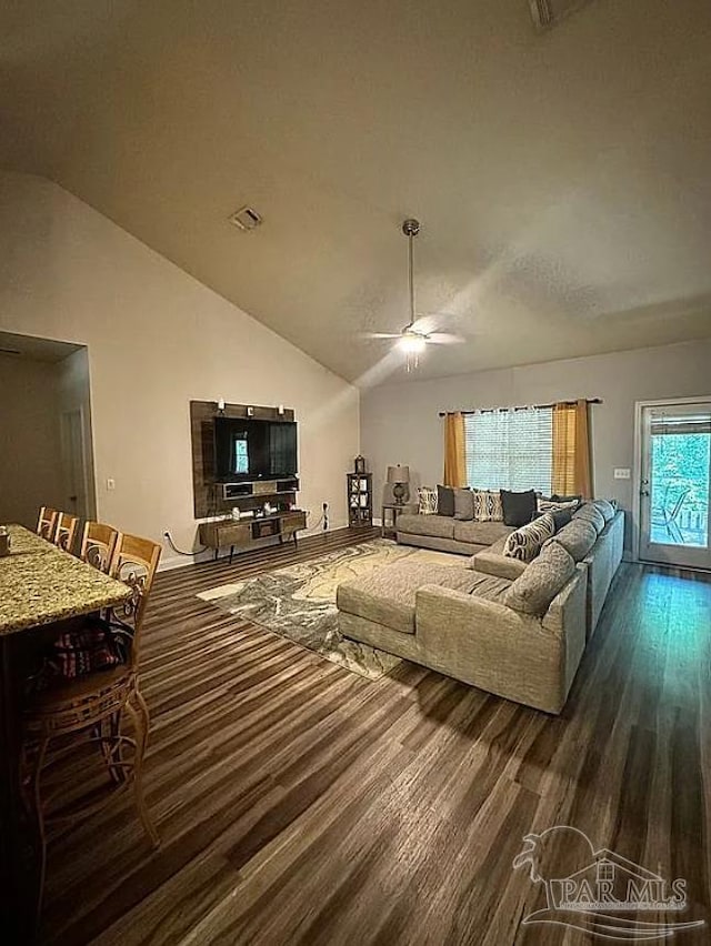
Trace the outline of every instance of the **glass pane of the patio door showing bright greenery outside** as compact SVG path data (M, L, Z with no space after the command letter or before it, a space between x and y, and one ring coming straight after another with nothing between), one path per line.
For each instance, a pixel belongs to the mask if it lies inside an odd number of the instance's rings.
M652 542L708 547L710 459L711 434L652 436Z

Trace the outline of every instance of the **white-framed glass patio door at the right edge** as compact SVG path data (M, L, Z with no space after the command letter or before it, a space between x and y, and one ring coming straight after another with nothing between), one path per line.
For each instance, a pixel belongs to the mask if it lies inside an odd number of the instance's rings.
M638 404L639 558L711 570L711 397Z

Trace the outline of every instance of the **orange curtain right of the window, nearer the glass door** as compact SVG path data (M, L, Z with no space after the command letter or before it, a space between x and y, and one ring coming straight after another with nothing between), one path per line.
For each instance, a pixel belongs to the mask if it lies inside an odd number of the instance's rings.
M592 499L588 402L553 406L553 493Z

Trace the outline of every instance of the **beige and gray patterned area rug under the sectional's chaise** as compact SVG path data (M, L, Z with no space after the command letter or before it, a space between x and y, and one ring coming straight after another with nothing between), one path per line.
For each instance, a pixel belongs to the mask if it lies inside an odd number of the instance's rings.
M331 663L369 680L379 680L402 661L368 644L348 641L338 630L336 590L358 577L403 558L462 565L462 557L408 549L383 539L349 545L308 562L264 572L201 592L198 597L229 614L248 618Z

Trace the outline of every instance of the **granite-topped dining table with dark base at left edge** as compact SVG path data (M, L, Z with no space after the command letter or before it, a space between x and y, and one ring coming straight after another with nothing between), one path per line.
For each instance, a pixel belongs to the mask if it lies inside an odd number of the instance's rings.
M63 622L120 604L131 590L22 525L6 529L10 547L0 556L0 936L3 943L28 944L37 934L40 846L20 784L24 682L41 646Z

